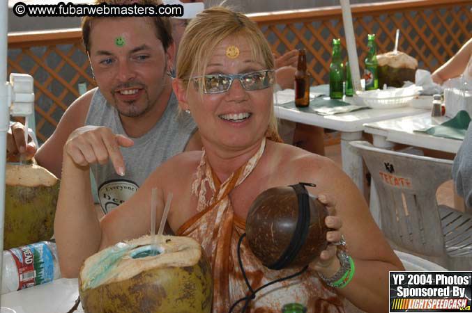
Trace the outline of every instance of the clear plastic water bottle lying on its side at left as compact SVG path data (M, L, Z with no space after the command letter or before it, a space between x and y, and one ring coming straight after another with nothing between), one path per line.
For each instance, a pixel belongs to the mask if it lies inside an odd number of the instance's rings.
M56 243L39 241L3 250L1 277L1 294L60 278Z

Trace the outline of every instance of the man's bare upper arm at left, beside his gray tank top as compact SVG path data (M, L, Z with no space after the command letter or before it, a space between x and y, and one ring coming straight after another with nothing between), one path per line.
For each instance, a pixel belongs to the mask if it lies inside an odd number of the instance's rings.
M35 159L40 166L61 177L62 152L69 135L84 126L91 99L96 89L89 90L71 104L62 115L54 133L36 152Z

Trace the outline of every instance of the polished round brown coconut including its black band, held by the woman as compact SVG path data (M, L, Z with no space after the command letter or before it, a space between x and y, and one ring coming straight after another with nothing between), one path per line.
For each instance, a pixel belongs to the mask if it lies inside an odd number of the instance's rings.
M308 194L302 183L270 188L250 207L246 218L248 244L268 268L305 266L328 246L326 216L324 204Z

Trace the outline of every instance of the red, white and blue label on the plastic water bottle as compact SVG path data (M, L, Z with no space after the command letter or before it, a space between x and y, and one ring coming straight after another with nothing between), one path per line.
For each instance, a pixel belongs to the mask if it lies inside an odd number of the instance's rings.
M18 290L54 280L52 252L44 241L8 251L18 269Z

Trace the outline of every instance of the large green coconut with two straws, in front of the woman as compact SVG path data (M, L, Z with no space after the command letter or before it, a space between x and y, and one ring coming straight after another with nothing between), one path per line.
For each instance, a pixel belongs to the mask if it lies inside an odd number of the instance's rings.
M86 313L211 312L211 267L190 237L116 243L85 260L79 295Z

